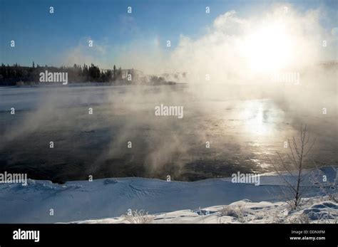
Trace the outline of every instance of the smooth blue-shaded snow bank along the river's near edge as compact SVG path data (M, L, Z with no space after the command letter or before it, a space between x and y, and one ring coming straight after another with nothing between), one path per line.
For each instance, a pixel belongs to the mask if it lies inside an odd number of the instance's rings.
M336 169L333 167L323 167L320 172L312 170L307 173L309 177L310 174L318 176L325 174L327 184L333 184L336 178ZM306 187L304 197L324 195L322 189L309 179L304 181L303 186ZM173 214L180 219L194 222L193 219L198 214L194 211L197 212L199 209L208 208L211 213L218 211L219 207L215 205L232 204L242 199L257 203L260 201L277 202L281 201L283 191L285 191L285 185L282 179L275 174L262 175L260 186L235 184L231 182L231 178L207 179L199 182L119 178L98 179L93 182L67 182L62 185L48 181L29 180L27 186L0 184L0 223L56 223L106 219L126 214L128 209L143 209L149 214L156 214L156 217L163 217L164 213L173 212L165 215ZM319 201L314 202L319 203ZM279 204L281 203L250 203L247 206L252 208L258 205L268 211ZM319 203L319 205L322 204ZM313 205L308 204L308 209L312 209ZM337 204L330 205L329 210L334 210L334 214L337 214ZM277 208L283 209L285 206ZM187 214L190 218L181 217L181 214ZM209 214L196 221L203 219L206 222L210 219L213 222L215 217L215 214ZM164 220L170 221L170 219L163 218ZM175 217L171 220L175 222Z

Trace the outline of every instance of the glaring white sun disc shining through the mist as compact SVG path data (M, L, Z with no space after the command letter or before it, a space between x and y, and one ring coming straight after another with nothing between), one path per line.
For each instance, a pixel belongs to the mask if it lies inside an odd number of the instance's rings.
M291 45L291 38L287 36L284 26L268 24L247 37L244 53L253 71L270 73L290 62Z

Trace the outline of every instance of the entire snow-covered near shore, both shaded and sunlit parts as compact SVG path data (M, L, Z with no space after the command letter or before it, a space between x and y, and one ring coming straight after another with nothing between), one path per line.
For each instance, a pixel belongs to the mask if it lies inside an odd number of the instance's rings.
M308 177L325 174L326 184L333 184L336 169L322 167L304 173ZM126 222L122 215L128 209L147 211L153 223L287 223L306 219L334 223L338 205L309 179L303 186L306 203L301 210L290 211L280 202L287 189L276 174L263 174L260 186L235 184L231 178L166 182L135 177L66 184L29 180L27 186L0 184L0 223L121 223ZM298 219L303 213L307 217Z

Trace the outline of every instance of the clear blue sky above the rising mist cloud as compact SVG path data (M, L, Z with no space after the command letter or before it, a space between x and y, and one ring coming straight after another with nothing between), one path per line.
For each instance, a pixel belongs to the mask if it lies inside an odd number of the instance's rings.
M61 65L64 54L88 39L102 47L112 47L109 59L121 57L121 47L133 41L157 38L160 46L170 40L178 43L180 34L190 38L203 36L205 28L217 16L235 9L239 16L259 14L273 2L280 1L16 1L0 0L1 63ZM290 1L288 1L290 2ZM322 8L328 19L323 25L337 24L337 1L294 1L300 11ZM54 14L49 14L49 6ZM127 14L132 6L133 13ZM205 14L210 6L210 14ZM10 41L16 47L10 47ZM82 61L78 61L82 63ZM116 61L118 64L118 61Z

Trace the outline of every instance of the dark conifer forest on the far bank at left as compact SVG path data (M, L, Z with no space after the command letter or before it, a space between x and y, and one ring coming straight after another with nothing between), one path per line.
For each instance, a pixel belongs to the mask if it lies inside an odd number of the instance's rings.
M60 68L53 66L35 65L31 67L21 66L17 63L14 65L1 64L0 67L0 85L36 85L39 84L39 74L41 72L67 72L69 83L121 83L127 80L123 75L123 70L113 66L111 70L101 70L93 63L89 66L86 64L74 64L73 67L61 66ZM133 70L124 71L133 74Z

